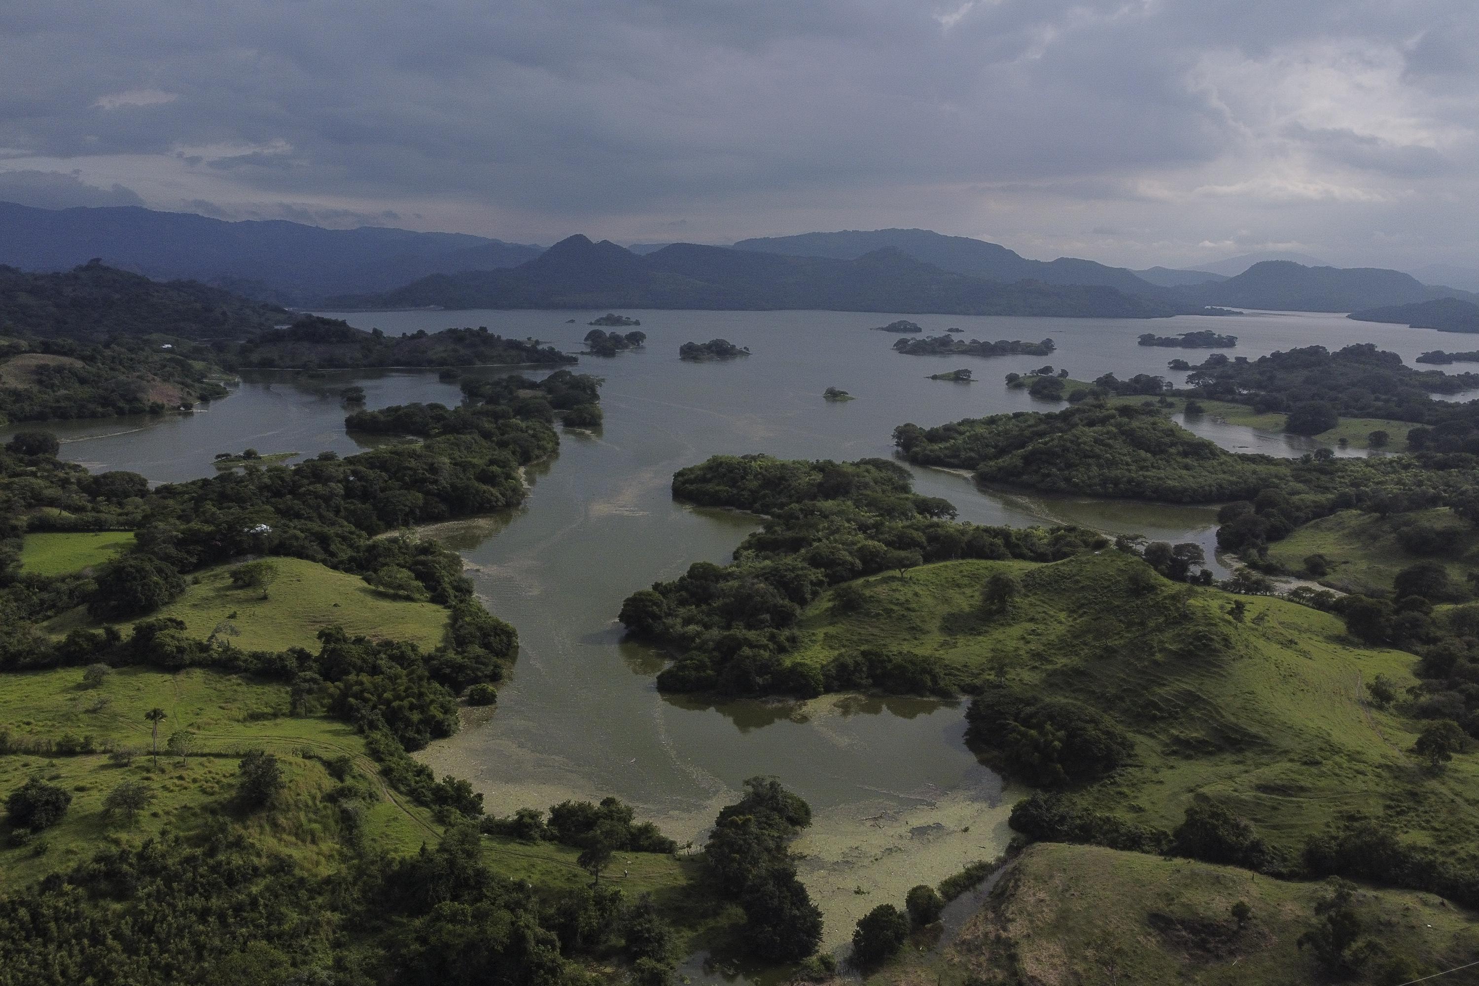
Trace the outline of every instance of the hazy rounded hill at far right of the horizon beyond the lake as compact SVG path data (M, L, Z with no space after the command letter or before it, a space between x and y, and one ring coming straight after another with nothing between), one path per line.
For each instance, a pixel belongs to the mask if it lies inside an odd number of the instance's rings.
M1469 302L1479 296L1429 287L1409 273L1381 268L1306 268L1291 260L1265 260L1235 278L1173 288L1186 302L1278 312L1355 312L1441 297Z

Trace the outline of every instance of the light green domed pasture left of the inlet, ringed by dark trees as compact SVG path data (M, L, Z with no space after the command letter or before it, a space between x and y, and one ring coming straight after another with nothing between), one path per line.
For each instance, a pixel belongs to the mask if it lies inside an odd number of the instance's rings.
M358 575L317 562L275 557L272 563L277 577L266 588L266 599L260 588L232 588L231 566L219 566L201 571L200 581L192 579L183 596L148 618L183 619L186 631L195 637L209 637L222 624L229 624L238 631L231 642L247 650L317 649L318 631L333 625L351 636L410 640L423 647L442 642L447 611L441 606L390 599ZM86 611L74 609L43 628L65 634L96 625Z

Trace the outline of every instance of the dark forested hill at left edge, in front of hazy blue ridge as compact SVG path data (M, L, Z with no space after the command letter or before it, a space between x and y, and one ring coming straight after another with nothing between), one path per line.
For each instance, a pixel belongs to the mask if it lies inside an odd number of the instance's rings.
M101 341L111 336L243 339L285 309L195 281L151 281L93 262L65 273L0 268L0 336Z

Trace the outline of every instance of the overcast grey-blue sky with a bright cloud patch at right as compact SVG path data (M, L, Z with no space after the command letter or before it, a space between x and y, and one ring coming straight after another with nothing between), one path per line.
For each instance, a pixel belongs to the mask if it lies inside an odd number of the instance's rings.
M1479 269L1473 0L0 4L0 200Z

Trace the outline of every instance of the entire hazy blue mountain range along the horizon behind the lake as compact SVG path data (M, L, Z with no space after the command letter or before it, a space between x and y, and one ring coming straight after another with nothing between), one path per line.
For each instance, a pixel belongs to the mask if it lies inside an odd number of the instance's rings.
M93 257L155 279L194 279L299 307L842 307L1146 318L1204 306L1352 312L1479 300L1398 271L1330 268L1303 254L1245 254L1205 271L1130 271L1075 257L1029 260L998 244L927 229L630 250L575 237L546 251L463 234L0 203L0 265L70 271Z

